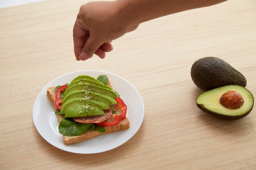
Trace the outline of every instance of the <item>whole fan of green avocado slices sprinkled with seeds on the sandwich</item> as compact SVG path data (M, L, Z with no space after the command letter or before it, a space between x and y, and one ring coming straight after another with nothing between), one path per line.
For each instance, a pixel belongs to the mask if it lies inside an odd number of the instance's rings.
M65 89L61 114L65 117L104 115L103 110L117 104L112 88L88 75L74 78Z

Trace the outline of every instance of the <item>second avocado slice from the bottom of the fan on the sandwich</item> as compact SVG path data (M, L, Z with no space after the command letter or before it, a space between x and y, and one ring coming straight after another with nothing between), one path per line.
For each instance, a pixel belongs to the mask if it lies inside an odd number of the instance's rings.
M70 100L67 100L62 107L61 107L61 114L67 113L67 110L73 106L80 104L82 106L93 106L97 107L100 110L108 110L110 107L108 104L88 99L81 99L81 97L71 98Z

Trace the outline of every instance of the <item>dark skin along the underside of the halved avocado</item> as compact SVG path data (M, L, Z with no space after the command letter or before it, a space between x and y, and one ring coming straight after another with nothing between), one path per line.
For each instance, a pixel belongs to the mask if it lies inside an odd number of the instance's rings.
M221 119L226 119L226 120L238 120L238 119L242 119L243 117L247 116L251 111L252 108L250 110L248 110L246 113L244 113L243 115L239 115L239 116L228 116L228 115L221 115L218 113L214 113L211 112L210 110L207 110L206 108L202 107L200 104L196 104L198 106L198 108L200 108L202 111L204 111L205 113L209 113L210 115L219 117ZM253 104L254 105L254 104Z

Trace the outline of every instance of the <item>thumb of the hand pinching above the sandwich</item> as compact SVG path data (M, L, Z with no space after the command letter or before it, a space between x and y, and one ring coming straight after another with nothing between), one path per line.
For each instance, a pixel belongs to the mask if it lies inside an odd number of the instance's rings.
M80 60L87 60L88 58L92 57L92 55L99 49L101 43L97 42L89 36L88 40L85 42L81 53L79 54Z

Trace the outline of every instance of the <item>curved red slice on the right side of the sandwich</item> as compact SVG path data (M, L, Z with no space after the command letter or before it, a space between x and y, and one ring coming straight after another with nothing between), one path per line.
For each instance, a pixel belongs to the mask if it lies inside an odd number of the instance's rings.
M117 101L116 107L114 108L114 110L116 112L121 112L121 114L112 114L112 117L110 117L110 119L100 122L100 123L96 123L96 125L98 126L115 126L117 125L122 119L124 119L126 117L126 112L127 112L127 106L124 103L124 101L120 98L117 97L115 98L115 100Z

